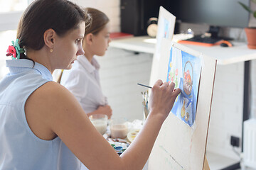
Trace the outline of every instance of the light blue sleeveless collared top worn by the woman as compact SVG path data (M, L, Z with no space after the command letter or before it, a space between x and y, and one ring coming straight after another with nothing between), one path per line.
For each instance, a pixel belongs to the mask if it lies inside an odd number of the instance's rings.
M0 170L77 170L80 161L56 137L41 140L26 121L28 96L48 81L49 70L30 60L7 60L10 73L0 81Z

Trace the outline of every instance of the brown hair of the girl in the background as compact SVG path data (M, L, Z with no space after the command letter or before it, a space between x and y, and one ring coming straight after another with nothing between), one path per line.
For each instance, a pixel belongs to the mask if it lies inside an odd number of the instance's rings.
M102 11L99 11L95 8L85 8L85 10L92 18L90 27L85 29L85 35L87 35L88 33L97 35L100 30L105 28L106 24L110 21L110 19L106 16L105 13L102 13Z

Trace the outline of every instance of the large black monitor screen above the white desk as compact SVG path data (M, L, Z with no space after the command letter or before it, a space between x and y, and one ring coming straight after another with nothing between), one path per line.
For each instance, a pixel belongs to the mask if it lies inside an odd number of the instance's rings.
M250 4L250 0L239 1ZM238 4L238 0L176 0L169 5L169 11L182 22L236 28L248 26L249 13Z

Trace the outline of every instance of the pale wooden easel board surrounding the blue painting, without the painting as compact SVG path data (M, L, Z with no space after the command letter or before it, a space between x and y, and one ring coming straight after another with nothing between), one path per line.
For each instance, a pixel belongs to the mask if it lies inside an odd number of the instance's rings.
M173 50L172 52L174 52L175 49L176 53L171 53L171 49ZM213 96L213 84L217 61L212 57L203 55L201 52L165 38L161 40L160 51L161 57L159 59L156 57L153 58L152 63L154 64L152 64L151 69L151 82L156 81L157 79L166 79L166 73L168 73L169 68L166 66L168 66L170 55L178 57L180 56L180 52L186 52L189 55L202 59L203 66L201 68L200 81L205 81L207 84L202 83L200 84L200 88L198 88L198 101L196 107L197 128L194 130L188 128L188 126L177 120L174 114L170 114L162 125L161 131L159 132L150 154L149 162L151 163L149 164L149 170L157 169L160 166L161 169L170 169L170 166L172 169L179 169L180 165L176 164L174 160L166 159L166 157L169 158L169 154L181 163L183 169L210 170L210 166L204 154L206 154L210 120L209 111ZM149 84L149 86L151 85L152 84ZM179 148L188 148L186 149L187 153L181 154ZM186 159L189 160L189 162L182 162Z

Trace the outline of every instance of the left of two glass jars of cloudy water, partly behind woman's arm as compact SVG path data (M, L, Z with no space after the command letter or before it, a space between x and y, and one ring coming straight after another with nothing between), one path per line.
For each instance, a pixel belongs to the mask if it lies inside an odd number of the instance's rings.
M95 114L89 116L92 125L95 126L96 130L104 135L107 131L107 115Z

